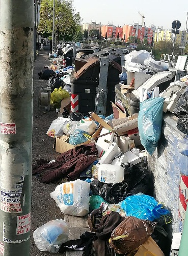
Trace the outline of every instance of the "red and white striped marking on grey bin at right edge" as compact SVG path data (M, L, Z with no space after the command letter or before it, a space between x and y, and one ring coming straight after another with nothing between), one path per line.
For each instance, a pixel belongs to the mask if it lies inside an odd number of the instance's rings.
M186 206L188 202L188 176L181 175L179 183L179 216L181 221L185 219Z

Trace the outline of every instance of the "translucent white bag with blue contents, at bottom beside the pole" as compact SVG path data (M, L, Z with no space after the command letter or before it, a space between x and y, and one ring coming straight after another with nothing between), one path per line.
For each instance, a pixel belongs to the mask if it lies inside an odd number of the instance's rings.
M62 219L49 221L34 231L33 238L40 251L57 253L68 241L68 226Z

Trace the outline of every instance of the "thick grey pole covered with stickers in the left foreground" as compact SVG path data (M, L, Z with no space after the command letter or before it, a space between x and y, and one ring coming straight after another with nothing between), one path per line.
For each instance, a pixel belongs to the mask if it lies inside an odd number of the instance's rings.
M33 0L0 0L0 255L29 256Z

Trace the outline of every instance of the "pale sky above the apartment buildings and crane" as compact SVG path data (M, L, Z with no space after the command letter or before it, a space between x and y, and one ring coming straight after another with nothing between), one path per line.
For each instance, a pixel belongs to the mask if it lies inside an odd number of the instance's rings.
M154 24L156 28L172 29L172 22L179 20L180 30L186 27L186 11L188 11L187 0L73 0L73 5L83 18L82 24L91 22L102 25L113 23L115 26L142 24L142 17L138 13L140 12L144 14L146 27Z

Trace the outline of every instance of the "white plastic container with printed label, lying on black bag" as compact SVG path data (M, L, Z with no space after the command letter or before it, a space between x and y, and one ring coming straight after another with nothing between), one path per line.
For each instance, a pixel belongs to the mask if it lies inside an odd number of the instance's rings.
M98 180L104 183L118 183L124 180L124 168L111 164L101 164L98 168Z

